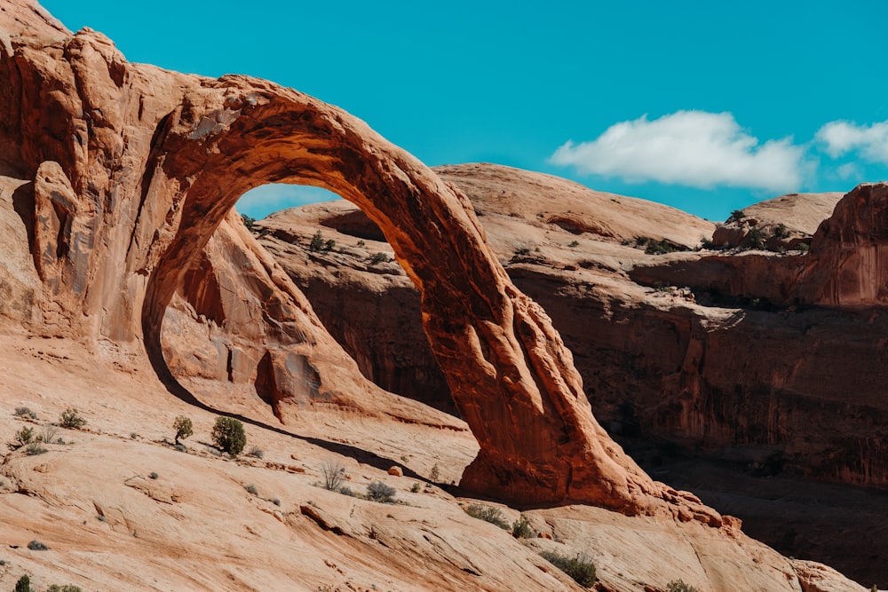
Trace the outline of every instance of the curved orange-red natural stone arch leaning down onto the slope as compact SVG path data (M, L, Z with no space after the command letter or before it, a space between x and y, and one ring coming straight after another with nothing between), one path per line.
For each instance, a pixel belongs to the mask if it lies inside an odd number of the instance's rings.
M652 502L659 487L595 422L569 351L511 284L455 187L360 120L246 77L187 93L163 127L152 184L174 188L176 232L155 250L142 309L153 359L191 258L241 195L264 183L321 186L379 225L422 294L432 351L480 443L464 487L633 513Z

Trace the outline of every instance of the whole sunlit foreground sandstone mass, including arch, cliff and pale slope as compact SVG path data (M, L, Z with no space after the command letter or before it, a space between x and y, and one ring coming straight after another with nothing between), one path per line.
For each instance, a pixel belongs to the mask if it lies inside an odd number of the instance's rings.
M11 445L0 462L4 586L31 572L42 587L577 589L541 549L590 553L603 590L812 580L811 566L797 570L622 452L464 193L366 124L265 81L130 64L107 37L70 35L28 0L0 7L0 30L0 219L12 243L0 430L12 443L34 425L47 449ZM266 182L329 188L382 229L472 438L356 372L238 225L235 201ZM36 419L13 416L20 405ZM63 444L46 418L67 407L89 423L63 430ZM240 415L267 456L213 454L218 410ZM164 435L183 413L197 431L184 451ZM407 477L385 470L395 455ZM329 461L347 462L359 491L384 480L404 503L317 487ZM408 485L432 472L531 508L543 536L521 544L436 485ZM36 540L49 549L26 547Z

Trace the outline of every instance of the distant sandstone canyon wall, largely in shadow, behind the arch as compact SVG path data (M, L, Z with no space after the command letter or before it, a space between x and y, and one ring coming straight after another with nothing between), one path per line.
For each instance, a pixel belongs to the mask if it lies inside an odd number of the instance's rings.
M881 443L888 437L884 428L888 415L881 385L888 376L879 344L888 326L879 305L860 309L769 304L771 299L785 302L789 288L801 294L805 285L816 285L810 280L815 273L830 276L837 262L844 261L845 256L838 254L855 249L853 245L860 242L824 248L825 230L818 231L813 241L807 234L817 225L806 217L812 217L812 211L829 217L829 201L834 196L813 195L813 204L805 208L798 203L803 195L765 202L772 217L762 219L774 226L781 224L774 204L789 204L786 224L804 241L812 242L807 255L702 250L654 256L610 237L575 234L545 222L540 216L543 211L568 209L560 201L563 186L547 185L548 176L480 164L438 170L451 182L463 184L511 279L550 313L574 353L599 418L618 437L653 440L656 446L638 448L647 466L655 468L678 445L679 450L694 451L747 473L753 479L749 486L754 486L756 478L775 474L885 486L888 459ZM528 178L534 182L522 185ZM511 179L511 193L534 197L535 201L527 199L527 208L520 214L511 213L509 202L490 201L489 196L497 194L496 183L503 179ZM853 203L873 204L879 187L862 185L852 192L824 228L854 224L868 228L854 236L877 235L871 224L846 223L847 215L841 212ZM613 214L607 210L599 214L601 204L594 197L590 204L588 209L574 203L570 208L577 217L599 215L609 224ZM877 220L877 214L868 213L875 207L862 209L860 216ZM750 217L749 212L758 212L757 206L745 210ZM805 216L798 215L800 210ZM369 260L377 251L389 251L384 243L370 241L375 236L372 225L361 224L359 216L346 202L279 212L258 223L267 232L260 241L305 290L325 325L353 355L360 354L360 343L370 338L366 331L371 330L352 322L359 303L373 303L377 321L372 330L399 328L385 337L374 334L374 338L385 343L388 364L394 360L403 367L392 369L371 360L362 366L366 375L379 381L401 371L418 380L424 375L422 360L431 356L423 341L411 336L416 335L409 323L415 319L417 296L411 304L405 294L406 278L394 264ZM837 223L840 218L843 222ZM630 236L663 235L656 231L657 216L641 219L644 225L628 231ZM337 249L307 252L317 230L335 240ZM363 241L362 246L358 241ZM391 304L390 294L397 294L397 305L386 305ZM818 297L814 295L806 297ZM343 318L348 322L341 322ZM343 332L345 325L348 328ZM425 375L433 376L433 370L430 365ZM400 392L434 403L443 397L438 389L439 383L431 378L414 383L412 391ZM672 471L665 480L676 475ZM693 477L682 482L705 488L704 481ZM716 497L731 500L730 487L739 485L728 479L724 486L727 489ZM786 486L788 492L805 487ZM814 503L821 504L822 516L839 511L830 509L841 504L836 492L824 494L823 498L812 494ZM742 514L742 506L731 503L729 507L730 512ZM852 512L852 507L847 511ZM774 503L750 512L752 516L757 535L780 543L788 554L805 556L813 551L836 558L861 578L875 579L881 573L880 562L888 557L888 547L876 537L866 545L873 558L860 560L855 547L860 544L858 533L851 529L847 536L834 531L827 535L826 523L821 529L822 516L816 513L790 517L786 508ZM788 537L775 528L777 524L798 535ZM860 529L867 526L866 521L858 525ZM882 527L881 523L876 526Z

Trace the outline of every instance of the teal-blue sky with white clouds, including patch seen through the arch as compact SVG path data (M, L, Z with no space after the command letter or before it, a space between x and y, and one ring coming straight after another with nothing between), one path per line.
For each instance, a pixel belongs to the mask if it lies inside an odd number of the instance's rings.
M497 162L712 220L888 179L876 0L42 4L131 61L312 94L432 166ZM322 199L258 192L238 208Z

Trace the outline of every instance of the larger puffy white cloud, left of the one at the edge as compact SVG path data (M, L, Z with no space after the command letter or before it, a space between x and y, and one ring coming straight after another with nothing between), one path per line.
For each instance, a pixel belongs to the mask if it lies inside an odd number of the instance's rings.
M805 161L805 148L793 145L792 138L759 145L733 114L705 111L614 123L591 142L567 142L550 162L632 183L731 185L774 192L799 189L803 173L813 167Z

